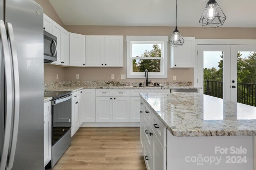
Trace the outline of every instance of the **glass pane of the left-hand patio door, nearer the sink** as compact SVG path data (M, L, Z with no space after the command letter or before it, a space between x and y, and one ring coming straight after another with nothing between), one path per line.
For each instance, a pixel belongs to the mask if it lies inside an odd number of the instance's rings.
M204 51L204 94L223 98L223 52Z

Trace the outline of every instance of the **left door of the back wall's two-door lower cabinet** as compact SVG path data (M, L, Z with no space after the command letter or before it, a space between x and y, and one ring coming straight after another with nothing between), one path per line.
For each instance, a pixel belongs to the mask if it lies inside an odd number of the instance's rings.
M96 122L113 122L113 97L96 97Z

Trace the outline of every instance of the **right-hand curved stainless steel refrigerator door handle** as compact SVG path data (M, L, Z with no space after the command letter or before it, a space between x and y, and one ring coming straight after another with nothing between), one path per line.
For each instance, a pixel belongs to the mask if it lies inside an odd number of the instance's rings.
M18 126L19 126L19 115L20 115L20 79L19 79L19 69L18 69L18 55L15 46L14 32L12 24L7 22L8 38L10 41L10 49L12 54L12 65L13 65L13 75L14 75L14 121L13 121L13 131L12 131L12 143L9 156L9 163L7 165L8 170L12 169L14 156L16 151L16 144L18 138Z

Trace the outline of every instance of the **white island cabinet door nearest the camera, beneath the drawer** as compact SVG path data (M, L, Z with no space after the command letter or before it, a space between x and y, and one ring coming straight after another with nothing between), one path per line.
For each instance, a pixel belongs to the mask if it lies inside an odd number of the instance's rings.
M166 170L166 148L153 135L153 170Z

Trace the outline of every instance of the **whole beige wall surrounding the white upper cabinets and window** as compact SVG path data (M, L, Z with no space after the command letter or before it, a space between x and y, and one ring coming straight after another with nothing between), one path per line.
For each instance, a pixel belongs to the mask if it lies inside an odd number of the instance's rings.
M44 13L55 22L63 26L60 18L48 0L35 0L44 8ZM121 74L126 74L126 36L169 36L174 27L150 27L150 26L64 26L69 32L84 35L122 35L124 36L124 67L60 67L44 66L44 82L56 81L139 81L141 79L120 79ZM214 28L180 27L182 36L195 37L197 39L256 39L256 28ZM176 81L192 81L192 68L170 69L170 45L168 45L168 79L151 79L152 81L172 81L173 75ZM59 79L56 80L56 74ZM80 79L76 79L80 74ZM115 79L111 79L111 74ZM149 77L150 79L150 77Z

